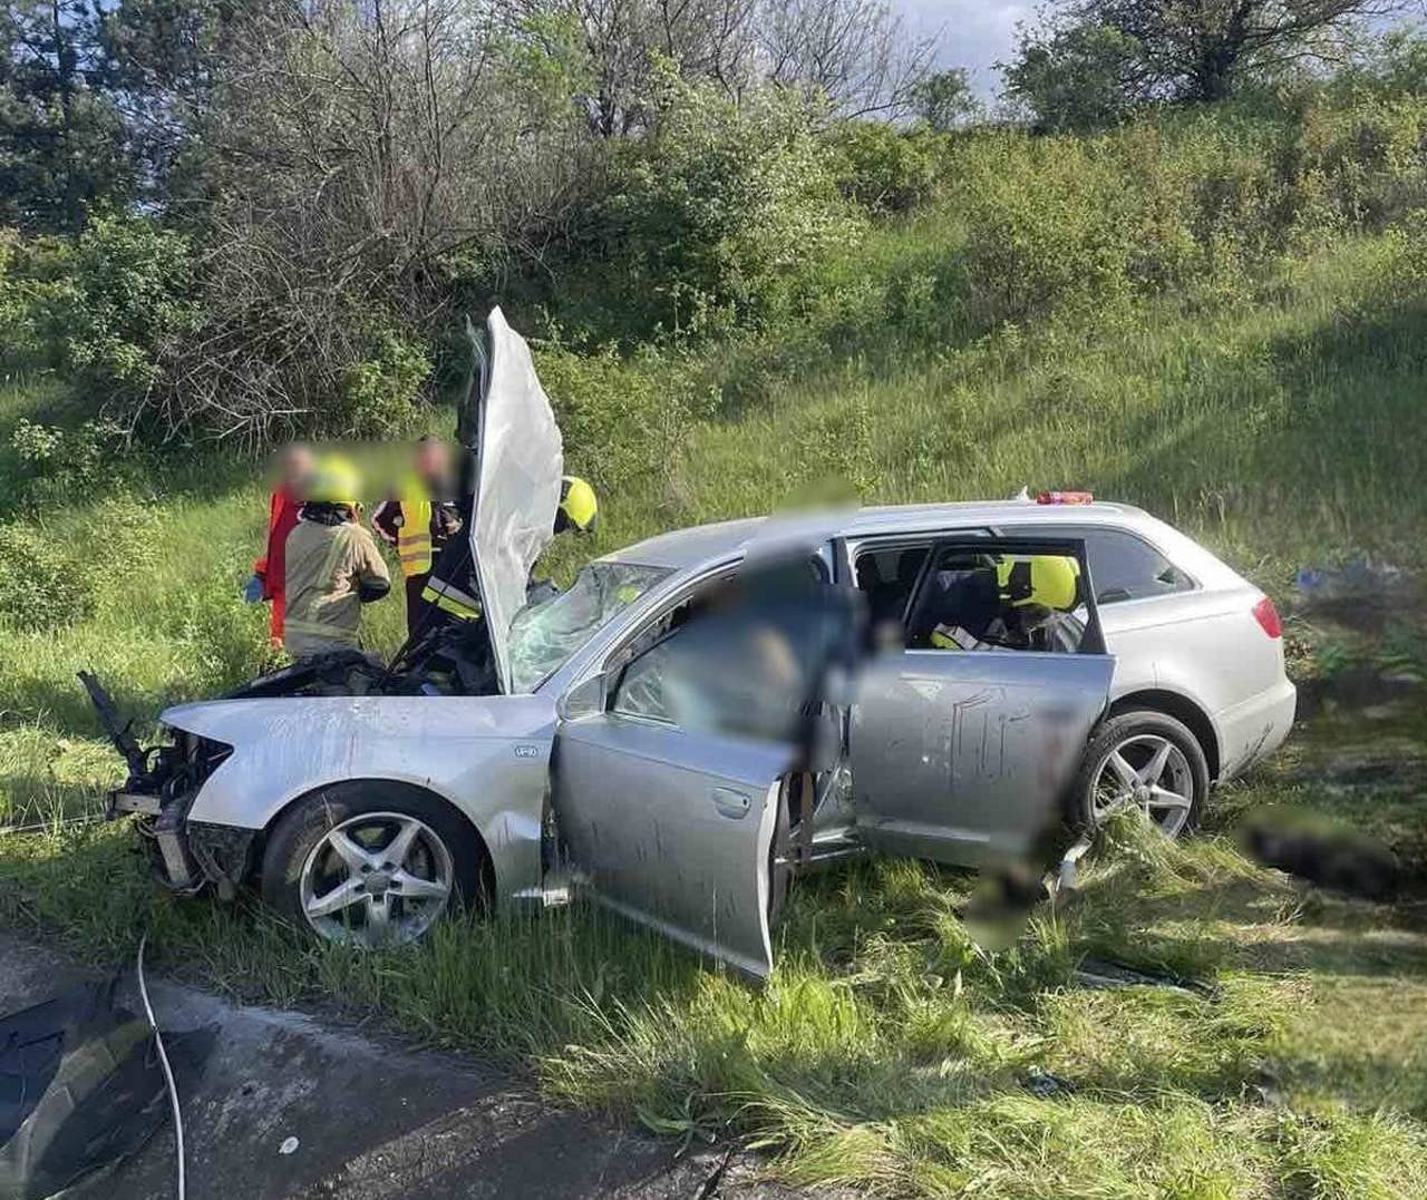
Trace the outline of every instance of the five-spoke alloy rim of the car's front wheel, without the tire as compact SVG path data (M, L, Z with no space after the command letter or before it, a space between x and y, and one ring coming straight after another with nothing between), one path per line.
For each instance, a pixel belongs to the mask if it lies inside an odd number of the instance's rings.
M307 923L334 942L412 942L451 900L455 869L445 842L400 812L364 812L331 829L303 863Z

